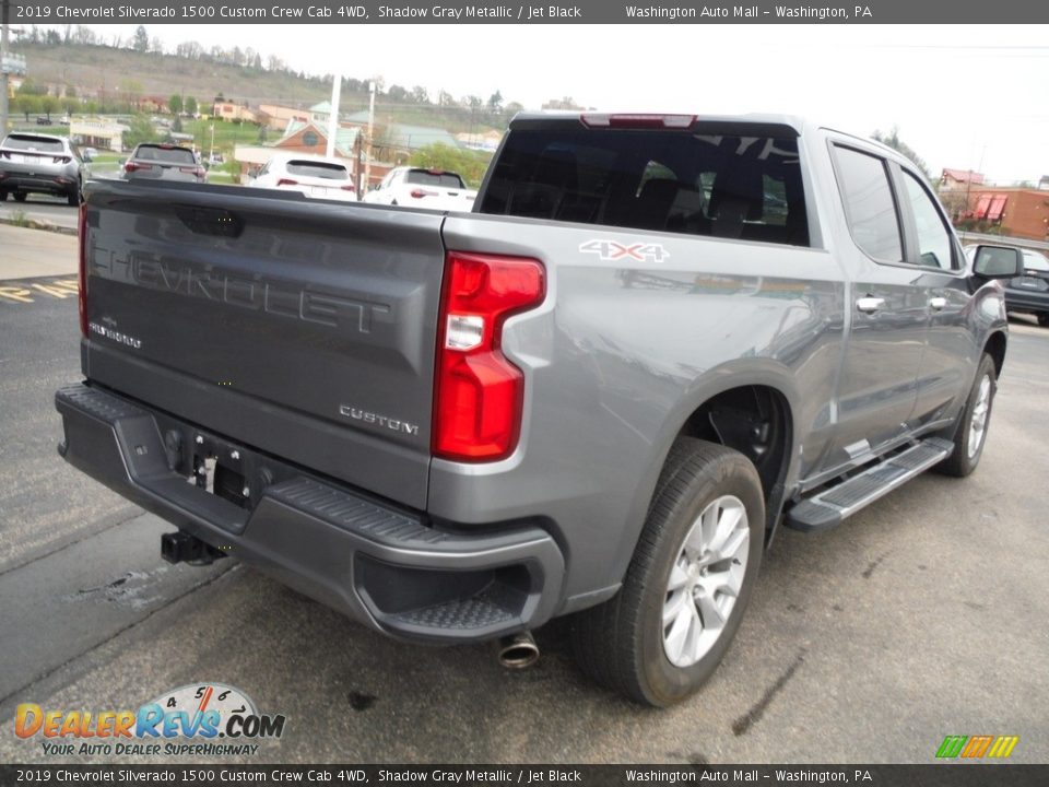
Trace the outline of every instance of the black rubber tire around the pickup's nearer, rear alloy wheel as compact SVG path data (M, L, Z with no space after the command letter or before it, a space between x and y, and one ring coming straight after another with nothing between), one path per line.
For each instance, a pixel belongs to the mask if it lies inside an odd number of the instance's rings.
M681 560L687 561L684 542L699 515L730 498L742 503L746 514L745 525L741 519L738 526L740 538L744 529L749 537L739 548L739 554L746 556L742 585L720 631L710 634L712 644L694 662L675 666L668 656L671 645L664 645L673 624L663 625L664 606L674 598L671 571L681 565ZM715 515L719 512L716 507ZM609 601L578 613L573 621L573 647L579 666L601 685L644 705L665 707L693 694L714 672L735 635L761 566L764 536L762 484L750 460L720 445L679 438L660 474L623 587ZM740 565L738 560L732 563ZM695 588L682 592L686 594L683 603L697 598ZM699 601L694 604L700 609ZM702 611L689 612L702 622Z

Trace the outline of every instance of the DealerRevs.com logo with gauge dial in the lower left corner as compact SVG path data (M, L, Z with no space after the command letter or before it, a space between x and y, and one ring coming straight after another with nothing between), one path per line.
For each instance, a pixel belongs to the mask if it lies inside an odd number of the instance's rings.
M197 683L165 692L138 710L15 708L19 738L39 739L44 753L70 755L225 756L255 754L279 739L285 717L260 714L239 689Z

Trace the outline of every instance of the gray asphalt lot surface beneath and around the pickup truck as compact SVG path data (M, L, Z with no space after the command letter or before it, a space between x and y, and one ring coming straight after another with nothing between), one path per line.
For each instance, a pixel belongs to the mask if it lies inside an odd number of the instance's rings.
M0 762L83 761L17 739L20 703L133 709L203 681L287 717L244 762L931 762L944 736L985 733L1049 761L1049 331L1030 321L977 473L781 531L724 663L656 712L590 684L562 622L508 672L487 646L391 642L233 561L163 563L169 528L55 451L52 391L80 376L68 273L0 283L28 292L0 296Z

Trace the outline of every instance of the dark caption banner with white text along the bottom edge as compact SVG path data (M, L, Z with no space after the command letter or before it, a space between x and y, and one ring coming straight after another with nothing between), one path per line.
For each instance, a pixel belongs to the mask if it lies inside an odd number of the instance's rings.
M871 785L1042 787L1049 765L0 765L0 785Z

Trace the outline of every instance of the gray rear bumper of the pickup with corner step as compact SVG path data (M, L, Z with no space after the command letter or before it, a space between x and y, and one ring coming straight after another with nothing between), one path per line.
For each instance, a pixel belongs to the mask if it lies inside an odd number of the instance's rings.
M491 639L541 625L561 601L564 559L535 525L469 536L436 529L424 515L103 389L70 386L55 401L66 434L59 453L71 465L377 631ZM208 458L223 468L214 478L225 481L212 489L225 496L190 480ZM231 493L231 479L247 495Z

